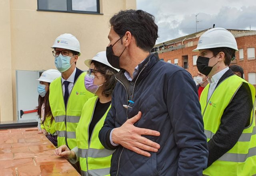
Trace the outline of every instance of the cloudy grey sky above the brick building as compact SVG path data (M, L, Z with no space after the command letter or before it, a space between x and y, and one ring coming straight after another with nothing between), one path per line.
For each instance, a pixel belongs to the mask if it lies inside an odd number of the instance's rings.
M156 44L196 32L196 24L197 31L213 24L256 30L256 0L137 0L139 9L155 16Z

